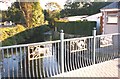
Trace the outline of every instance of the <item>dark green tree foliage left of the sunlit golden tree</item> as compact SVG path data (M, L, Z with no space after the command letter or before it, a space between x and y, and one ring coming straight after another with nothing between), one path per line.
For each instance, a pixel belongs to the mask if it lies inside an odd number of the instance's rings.
M15 23L24 23L22 12L20 11L18 2L15 2L7 11L2 11L2 21L12 21Z

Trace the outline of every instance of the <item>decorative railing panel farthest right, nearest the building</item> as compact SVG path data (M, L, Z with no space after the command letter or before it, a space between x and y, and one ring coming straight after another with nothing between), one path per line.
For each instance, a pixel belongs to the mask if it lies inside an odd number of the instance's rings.
M112 44L112 35L111 36L102 36L100 37L100 47L110 46Z

